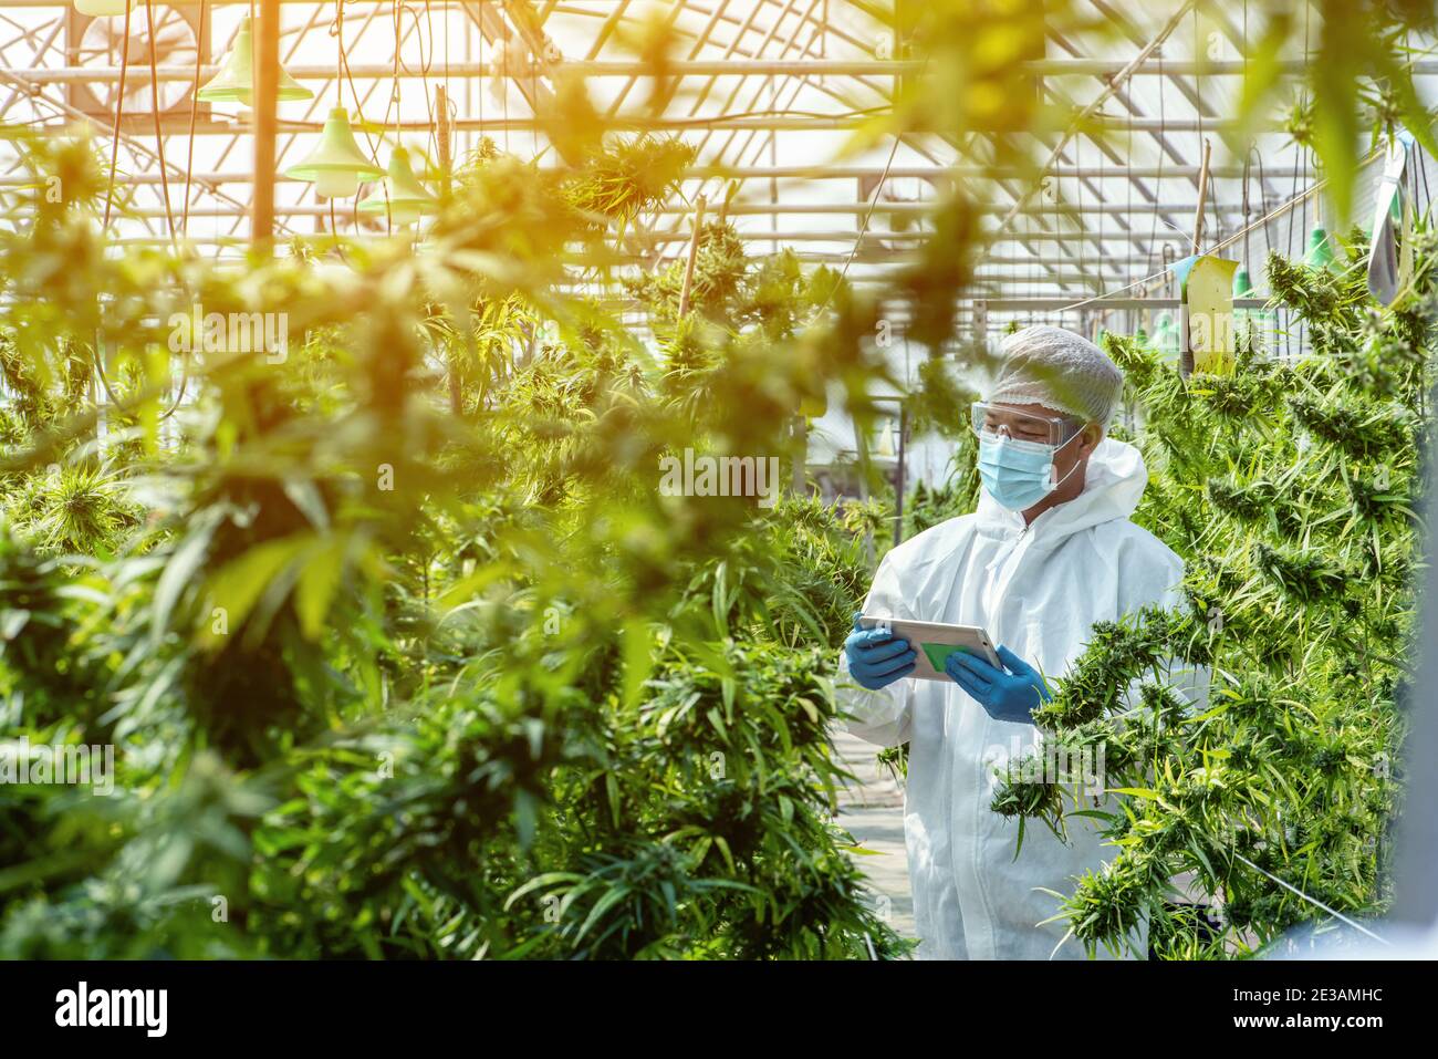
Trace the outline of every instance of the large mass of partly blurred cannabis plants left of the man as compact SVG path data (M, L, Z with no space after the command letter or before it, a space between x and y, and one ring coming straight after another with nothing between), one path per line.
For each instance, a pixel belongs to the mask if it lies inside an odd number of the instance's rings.
M684 447L787 471L800 401L866 384L797 338L833 285L709 229L699 314L636 291L659 357L554 295L674 154L480 153L423 256L349 269L112 258L82 204L3 236L6 731L114 747L115 790L6 787L0 953L906 950L833 826L861 534L657 489ZM288 357L167 360L196 304Z

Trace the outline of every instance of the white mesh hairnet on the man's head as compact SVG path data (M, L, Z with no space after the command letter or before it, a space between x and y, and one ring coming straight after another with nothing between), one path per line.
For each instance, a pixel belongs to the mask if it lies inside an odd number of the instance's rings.
M1025 327L999 347L1004 367L988 400L1041 404L1086 423L1109 426L1123 376L1097 345L1061 327Z

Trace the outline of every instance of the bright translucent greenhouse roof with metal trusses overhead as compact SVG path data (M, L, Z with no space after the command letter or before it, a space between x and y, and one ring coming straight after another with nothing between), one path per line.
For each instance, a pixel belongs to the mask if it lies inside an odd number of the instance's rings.
M677 194L630 233L633 268L680 258L703 197L707 216L722 213L755 253L789 247L857 283L881 282L932 232L933 203L951 181L968 181L991 240L963 309L982 302L985 314L1048 315L1097 308L1100 295L1172 294L1166 269L1192 249L1201 183L1204 247L1225 246L1260 286L1263 255L1301 253L1320 223L1322 174L1277 117L1245 157L1224 140L1270 6L1199 13L1178 0L1078 0L1077 29L1050 22L1044 56L1028 60L1035 92L1089 124L1055 135L1022 131L1047 163L1041 183L1021 167L995 167L991 141L959 142L922 121L892 135L884 122L905 78L930 72L894 43L886 7L426 0L341 9L282 0L280 58L312 98L279 106L275 230L384 233L383 219L349 203L336 209L283 176L329 108L364 117L361 151L381 165L394 144L437 157L437 98L447 99L457 158L487 137L546 164L554 150L545 127L567 75L584 79L608 127L676 135L697 151ZM644 76L653 68L637 58L656 10L679 42L666 60L669 85ZM1306 42L1317 33L1309 10L1294 9L1304 32L1280 56L1283 76L1307 68ZM247 1L233 0L138 3L127 46L124 16L89 17L62 0L0 0L0 119L56 129L81 121L108 155L124 85L114 180L129 209L115 222L118 242L165 245L178 232L201 253L239 256L250 237L250 115L239 102L191 99L197 78L220 72L247 13ZM1414 71L1426 98L1438 60L1421 53ZM1426 177L1426 164L1418 171ZM32 181L19 153L0 148L0 191ZM13 210L7 220L24 223Z

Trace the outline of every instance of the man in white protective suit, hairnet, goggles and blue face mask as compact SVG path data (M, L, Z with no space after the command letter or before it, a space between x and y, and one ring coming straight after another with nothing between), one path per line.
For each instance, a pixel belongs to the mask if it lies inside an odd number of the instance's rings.
M1148 483L1143 459L1104 437L1119 368L1054 327L1017 331L1002 353L992 391L972 410L978 509L884 555L863 612L981 626L1002 669L956 652L945 665L952 682L909 678L916 645L857 620L841 660L850 731L909 744L905 837L920 958L1086 955L1073 938L1060 945L1067 921L1043 922L1058 911L1043 891L1071 892L1116 850L1096 822L1070 817L1067 843L1031 824L1015 858L1017 820L989 809L995 773L1040 745L1030 712L1051 696L1044 675L1064 675L1096 622L1185 606L1182 560L1129 521ZM1181 694L1198 701L1204 679L1181 676ZM1133 951L1146 954L1146 927Z

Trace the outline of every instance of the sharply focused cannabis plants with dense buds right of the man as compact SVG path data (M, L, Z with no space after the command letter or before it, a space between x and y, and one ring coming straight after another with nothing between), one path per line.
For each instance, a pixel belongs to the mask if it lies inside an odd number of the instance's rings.
M1313 342L1296 364L1250 351L1232 377L1183 381L1106 338L1142 420L1137 521L1188 560L1191 612L1100 624L1035 714L1070 754L1103 747L1113 812L1017 767L994 800L1058 832L1099 816L1112 863L1055 895L1090 950L1132 945L1146 919L1159 955L1244 955L1329 930L1314 902L1386 906L1438 304L1434 236L1419 240L1412 288L1383 311L1360 269L1273 258L1276 298ZM1169 688L1173 665L1211 668L1205 708ZM1185 873L1217 924L1176 901Z

